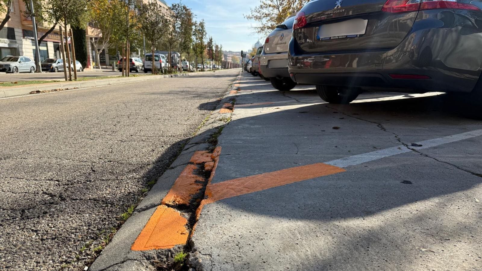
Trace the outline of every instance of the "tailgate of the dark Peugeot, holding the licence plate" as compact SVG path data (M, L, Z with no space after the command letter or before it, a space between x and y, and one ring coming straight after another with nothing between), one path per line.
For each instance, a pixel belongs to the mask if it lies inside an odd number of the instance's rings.
M295 41L310 53L393 48L411 31L419 2L314 0L297 15L294 28L305 25L295 29Z

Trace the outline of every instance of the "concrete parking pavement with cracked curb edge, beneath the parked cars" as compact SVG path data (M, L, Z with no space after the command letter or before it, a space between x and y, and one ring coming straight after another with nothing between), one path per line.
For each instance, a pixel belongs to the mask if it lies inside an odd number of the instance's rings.
M214 130L190 142L91 270L153 270L183 249L191 271L482 266L480 121L437 94L329 105L310 86L279 92L247 73L230 90ZM179 180L222 120L217 148L201 152L204 168L215 162L201 204L166 202L183 198Z

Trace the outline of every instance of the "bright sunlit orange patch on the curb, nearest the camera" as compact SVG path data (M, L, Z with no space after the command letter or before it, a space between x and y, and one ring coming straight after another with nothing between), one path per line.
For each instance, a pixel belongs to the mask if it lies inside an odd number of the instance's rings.
M187 219L173 208L164 205L157 207L146 227L137 237L132 250L169 249L186 244L189 232L185 225Z

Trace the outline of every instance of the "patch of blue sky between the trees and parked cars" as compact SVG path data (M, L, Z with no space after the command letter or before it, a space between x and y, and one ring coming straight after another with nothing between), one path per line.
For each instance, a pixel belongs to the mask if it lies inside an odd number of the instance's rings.
M171 5L179 0L166 0ZM223 45L224 51L251 50L258 40L264 40L250 29L253 21L248 21L243 14L249 14L250 8L259 4L259 0L182 0L192 9L196 20L204 19L208 36ZM263 42L263 41L262 41Z

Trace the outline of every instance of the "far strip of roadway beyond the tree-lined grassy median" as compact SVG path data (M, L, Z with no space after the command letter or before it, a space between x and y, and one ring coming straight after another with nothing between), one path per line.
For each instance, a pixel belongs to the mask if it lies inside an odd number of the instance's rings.
M131 74L145 75L143 71L131 72ZM149 73L150 74L150 73ZM82 71L77 72L77 77L98 77L98 76L120 76L119 71L113 71L104 69L101 71ZM68 76L68 73L67 73ZM72 73L72 77L74 74ZM0 82L12 82L12 81L36 81L36 80L65 80L64 72L42 72L42 73L5 73L0 72Z

